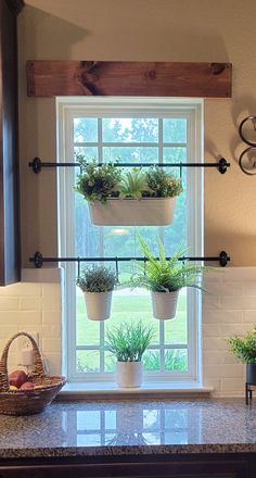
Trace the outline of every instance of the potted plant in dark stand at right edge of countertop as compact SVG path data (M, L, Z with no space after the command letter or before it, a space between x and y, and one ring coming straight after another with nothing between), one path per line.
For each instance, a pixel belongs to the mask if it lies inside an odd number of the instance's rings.
M244 337L233 336L227 342L231 352L246 364L246 383L256 385L256 326Z

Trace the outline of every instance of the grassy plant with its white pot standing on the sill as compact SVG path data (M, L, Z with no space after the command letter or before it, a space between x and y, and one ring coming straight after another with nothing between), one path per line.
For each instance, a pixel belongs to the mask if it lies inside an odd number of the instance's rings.
M125 323L106 332L106 347L116 356L118 387L140 387L142 383L142 355L150 345L154 330L141 322Z

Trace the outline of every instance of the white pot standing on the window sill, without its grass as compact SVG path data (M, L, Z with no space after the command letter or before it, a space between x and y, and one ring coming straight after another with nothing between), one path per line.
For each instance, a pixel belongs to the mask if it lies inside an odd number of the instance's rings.
M140 387L142 383L142 362L117 362L116 382L118 387Z

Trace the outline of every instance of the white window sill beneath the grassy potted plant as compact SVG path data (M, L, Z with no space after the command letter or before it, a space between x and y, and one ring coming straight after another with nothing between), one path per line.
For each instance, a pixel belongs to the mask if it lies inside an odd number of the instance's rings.
M213 387L203 387L197 382L145 382L140 388L118 388L115 382L66 383L59 399L191 399L207 398Z

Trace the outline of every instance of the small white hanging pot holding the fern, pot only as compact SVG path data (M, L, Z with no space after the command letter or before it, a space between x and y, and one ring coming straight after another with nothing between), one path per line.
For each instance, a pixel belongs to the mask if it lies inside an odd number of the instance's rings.
M176 316L179 290L175 292L151 292L153 315L167 320Z

